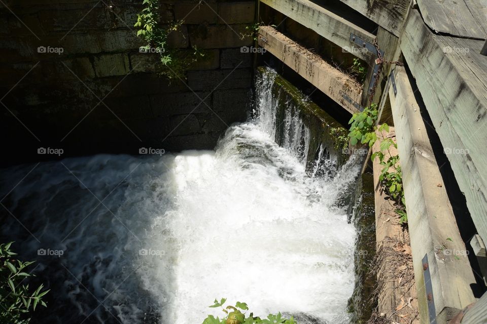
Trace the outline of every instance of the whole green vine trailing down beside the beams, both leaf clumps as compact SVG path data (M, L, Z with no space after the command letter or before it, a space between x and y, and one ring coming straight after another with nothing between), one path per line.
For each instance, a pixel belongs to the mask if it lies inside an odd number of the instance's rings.
M372 147L377 141L376 121L377 105L375 104L365 107L362 112L355 113L349 121L349 124L351 124L349 133L351 144L356 145L360 141L361 144L367 144L369 147ZM389 126L387 124L382 124L378 130L382 132L382 140L379 144L379 151L374 152L371 159L372 161L376 158L379 159L379 164L382 166L379 181L385 188L387 194L394 199L396 205L399 207L397 213L400 216L400 223L407 223L399 155L392 155L389 151L391 146L397 149L397 144L392 139L385 137L385 133L389 132Z

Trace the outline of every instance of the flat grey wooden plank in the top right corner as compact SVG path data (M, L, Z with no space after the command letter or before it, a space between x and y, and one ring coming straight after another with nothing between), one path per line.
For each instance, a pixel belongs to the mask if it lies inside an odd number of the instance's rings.
M487 0L417 0L426 24L451 36L485 39Z

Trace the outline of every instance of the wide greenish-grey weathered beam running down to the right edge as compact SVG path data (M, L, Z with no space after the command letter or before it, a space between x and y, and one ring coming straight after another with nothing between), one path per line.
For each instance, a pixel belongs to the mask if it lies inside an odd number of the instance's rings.
M487 60L479 54L483 41L435 35L412 10L400 46L485 242Z

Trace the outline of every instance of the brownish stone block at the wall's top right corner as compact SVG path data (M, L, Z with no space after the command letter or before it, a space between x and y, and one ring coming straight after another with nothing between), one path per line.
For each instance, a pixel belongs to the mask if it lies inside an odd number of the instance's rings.
M251 24L255 19L255 1L218 4L219 23Z

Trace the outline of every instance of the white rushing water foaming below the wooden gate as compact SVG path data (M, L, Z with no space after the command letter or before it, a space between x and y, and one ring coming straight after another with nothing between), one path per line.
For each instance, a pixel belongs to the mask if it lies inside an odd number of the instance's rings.
M337 200L359 164L320 176L320 155L306 172L309 131L286 117L277 145L272 74L261 83L257 117L215 151L3 170L3 240L52 289L34 322L199 324L221 297L302 323L349 321L356 233Z

